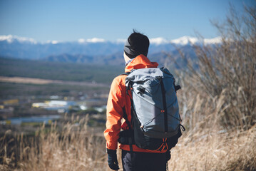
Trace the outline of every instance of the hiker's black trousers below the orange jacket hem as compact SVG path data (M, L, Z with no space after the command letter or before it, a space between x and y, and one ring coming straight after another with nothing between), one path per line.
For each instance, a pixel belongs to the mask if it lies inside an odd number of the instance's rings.
M123 171L165 171L165 153L122 150Z

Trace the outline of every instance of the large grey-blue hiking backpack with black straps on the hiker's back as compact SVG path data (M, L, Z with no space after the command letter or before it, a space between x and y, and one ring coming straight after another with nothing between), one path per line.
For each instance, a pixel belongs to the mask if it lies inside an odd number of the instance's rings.
M126 92L130 90L132 95L133 129L128 123L129 130L120 133L120 140L128 134L132 137L129 145L132 142L147 150L170 150L181 136L180 127L185 130L176 96L180 86L175 86L175 78L166 68L141 68L126 75Z

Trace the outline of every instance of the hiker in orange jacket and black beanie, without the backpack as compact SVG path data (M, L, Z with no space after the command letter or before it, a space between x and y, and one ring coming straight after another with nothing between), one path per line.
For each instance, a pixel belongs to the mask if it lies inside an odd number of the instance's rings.
M158 63L150 62L148 55L149 39L142 33L133 31L128 37L124 47L124 59L126 61L125 72L133 69L156 68ZM130 97L126 93L126 75L114 78L108 96L107 121L104 136L108 153L108 165L112 170L118 170L116 149L118 147L119 133L128 130L131 120ZM126 121L122 119L125 119ZM128 120L128 122L127 122ZM122 149L122 164L124 171L130 170L166 170L166 162L170 159L170 151L151 151L137 147L136 145L120 145Z

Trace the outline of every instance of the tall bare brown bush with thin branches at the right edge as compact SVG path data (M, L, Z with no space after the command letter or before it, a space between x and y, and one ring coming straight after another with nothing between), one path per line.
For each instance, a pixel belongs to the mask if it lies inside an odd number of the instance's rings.
M248 130L256 123L256 13L253 8L246 10L246 16L237 16L231 9L225 24L215 23L222 43L214 47L195 46L198 60L188 61L183 78L183 87L188 90L183 91L186 99L180 100L181 103L198 96L201 103L212 104L213 110L220 110L214 119L223 129ZM188 103L184 105L188 107ZM213 120L211 112L196 113ZM208 120L205 123L209 123Z

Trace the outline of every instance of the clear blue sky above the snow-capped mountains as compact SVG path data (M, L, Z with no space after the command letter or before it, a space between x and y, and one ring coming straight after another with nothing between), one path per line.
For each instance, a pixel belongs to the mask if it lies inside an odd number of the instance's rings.
M217 36L210 20L223 21L229 3L242 12L255 0L0 0L0 35L36 41L127 38L132 29L149 38Z

